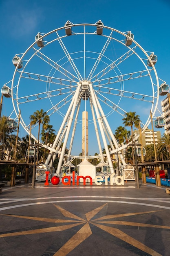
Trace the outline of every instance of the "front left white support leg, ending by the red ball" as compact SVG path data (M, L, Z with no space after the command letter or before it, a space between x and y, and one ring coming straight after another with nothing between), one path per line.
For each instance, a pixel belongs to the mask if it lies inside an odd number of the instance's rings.
M65 135L65 138L64 138L64 142L63 142L63 146L62 146L62 151L61 151L60 159L59 159L58 166L57 166L57 171L56 171L57 174L59 174L60 171L61 171L62 161L63 161L63 157L64 157L65 150L66 150L66 144L67 144L68 136L69 136L69 133L70 133L71 124L72 124L72 121L73 121L73 116L74 116L74 113L75 113L75 108L77 107L77 101L78 101L78 97L79 97L80 88L81 88L81 84L79 83L78 86L77 86L76 92L75 92L75 97L73 97L73 99L72 99L72 101L73 101L73 108L71 110L71 115L69 117L68 126L67 126L67 130L66 130L66 135Z

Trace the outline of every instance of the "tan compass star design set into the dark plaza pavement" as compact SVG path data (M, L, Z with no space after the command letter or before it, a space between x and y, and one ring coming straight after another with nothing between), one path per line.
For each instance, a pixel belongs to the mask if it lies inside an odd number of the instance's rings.
M143 212L132 212L132 213L122 213L122 214L113 214L106 215L95 218L95 216L99 215L100 212L104 209L104 207L108 206L108 203L102 204L100 207L93 209L85 214L86 218L81 218L70 211L60 207L57 204L53 204L65 218L62 219L53 219L53 218L40 218L40 217L31 217L31 216L20 216L20 215L12 215L12 214L1 214L1 216L8 216L20 219L27 220L36 220L40 222L51 222L55 223L53 227L46 227L40 229L31 229L26 231L15 231L11 233L0 234L0 238L7 238L12 236L28 236L31 234L42 234L42 233L51 233L51 232L60 232L68 229L72 229L73 227L80 226L77 232L53 255L55 256L65 256L68 253L72 252L78 245L80 245L83 241L85 241L88 237L90 237L93 233L93 226L98 229L107 232L108 234L119 238L120 240L132 245L145 252L146 254L142 255L153 255L160 256L158 252L146 246L144 243L139 242L139 240L129 236L124 231L121 231L119 226L134 226L134 227L143 227L143 228L155 228L155 229L170 229L170 227L163 225L152 225L147 223L140 222L131 222L124 220L116 220L117 218L127 217L127 216L137 216L143 214L156 213L158 211L143 211ZM100 214L101 215L101 214ZM56 226L57 224L57 226ZM61 225L60 225L61 224Z

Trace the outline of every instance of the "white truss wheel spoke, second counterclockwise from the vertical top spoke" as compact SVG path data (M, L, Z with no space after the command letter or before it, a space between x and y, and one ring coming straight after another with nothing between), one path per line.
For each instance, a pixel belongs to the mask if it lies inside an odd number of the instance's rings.
M72 81L79 80L78 76L73 75L71 72L69 72L68 70L63 68L57 62L51 60L51 58L47 57L42 52L36 51L35 55L38 56L39 58L41 58L43 61L45 61L48 65L51 65L53 68L55 68L55 70L60 72L62 75L68 77L69 79L72 79Z

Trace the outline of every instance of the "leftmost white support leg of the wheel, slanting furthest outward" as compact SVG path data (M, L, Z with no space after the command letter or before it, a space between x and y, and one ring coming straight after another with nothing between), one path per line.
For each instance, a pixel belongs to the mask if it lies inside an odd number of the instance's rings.
M60 129L59 129L59 131L57 133L57 136L56 136L55 141L53 143L53 148L56 148L57 142L59 141L60 135L62 134L62 130L64 128L64 125L65 125L65 123L66 123L66 121L68 119L68 116L70 115L71 109L73 107L74 99L75 99L75 94L74 94L73 99L71 101L71 104L70 104L70 106L69 106L69 108L68 108L68 110L66 112L66 115L65 115L65 117L64 117L64 119L62 121L62 125L60 126ZM52 151L49 153L49 155L48 155L48 157L46 159L45 164L47 164L47 165L49 164L50 159L51 159L51 155L52 155ZM54 156L54 160L55 160L55 157L56 157L56 155ZM54 160L53 160L53 162L54 162Z

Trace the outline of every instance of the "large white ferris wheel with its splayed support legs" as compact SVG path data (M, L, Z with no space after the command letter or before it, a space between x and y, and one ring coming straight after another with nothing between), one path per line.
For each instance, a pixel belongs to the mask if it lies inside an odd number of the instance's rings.
M84 125L88 127L84 158L96 157L98 152L102 159L104 148L113 173L110 155L127 147L120 147L113 133L126 112L140 115L144 131L150 124L150 111L154 115L157 109L156 61L157 56L146 52L131 31L106 27L101 20L95 24L67 21L49 33L38 33L24 54L13 58L16 68L11 90L15 113L20 112L26 132L30 132L29 117L36 110L43 109L50 117L56 138L52 147L43 145L50 150L46 164L60 154L59 173L66 148L68 160L79 157ZM88 115L84 122L83 112ZM37 134L38 126L33 126L35 140ZM92 147L96 148L93 155ZM123 156L120 158L124 165Z

